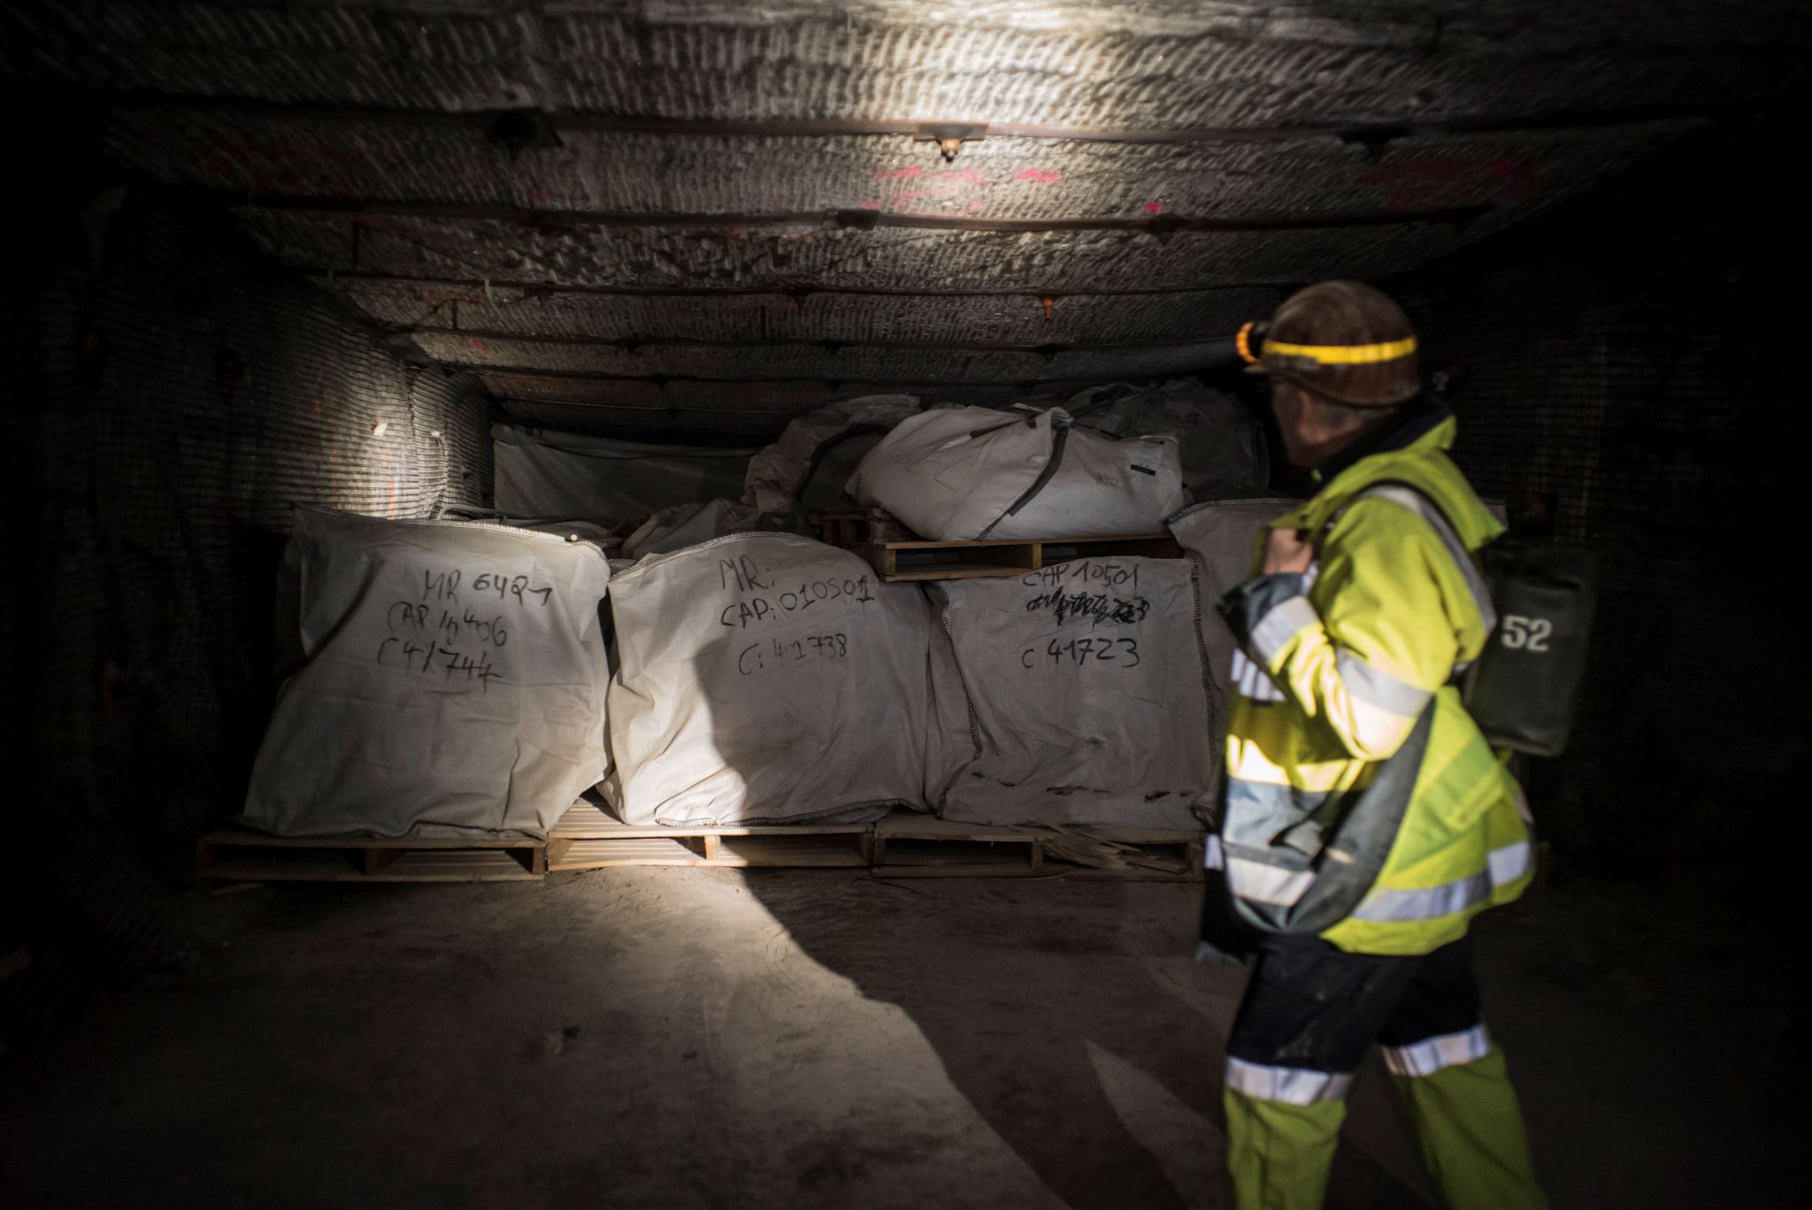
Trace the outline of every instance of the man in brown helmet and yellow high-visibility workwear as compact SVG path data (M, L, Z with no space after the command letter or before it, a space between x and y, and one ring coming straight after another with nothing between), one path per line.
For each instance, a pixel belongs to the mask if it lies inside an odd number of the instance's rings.
M1238 639L1203 951L1252 964L1227 1043L1238 1206L1319 1206L1373 1043L1457 1210L1544 1206L1466 926L1533 873L1522 793L1455 687L1500 525L1448 458L1386 295L1321 283L1241 331L1319 491L1261 533Z

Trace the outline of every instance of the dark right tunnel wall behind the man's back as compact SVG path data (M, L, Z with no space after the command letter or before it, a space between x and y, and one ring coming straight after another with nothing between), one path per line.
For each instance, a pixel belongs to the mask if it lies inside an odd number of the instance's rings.
M1401 283L1473 484L1600 552L1575 743L1531 772L1566 851L1716 855L1709 815L1805 783L1812 652L1779 591L1805 422L1772 243L1794 216L1725 185L1765 134L1703 139Z

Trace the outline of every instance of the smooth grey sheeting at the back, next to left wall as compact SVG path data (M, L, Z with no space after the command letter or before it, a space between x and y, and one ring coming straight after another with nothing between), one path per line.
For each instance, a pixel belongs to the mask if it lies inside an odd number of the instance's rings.
M754 449L643 446L607 437L491 426L496 507L511 516L640 523L676 504L737 496Z

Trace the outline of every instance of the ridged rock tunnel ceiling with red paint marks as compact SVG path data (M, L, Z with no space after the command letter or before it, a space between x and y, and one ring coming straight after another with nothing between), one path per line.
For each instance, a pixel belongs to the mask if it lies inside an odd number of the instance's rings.
M1580 7L74 0L0 13L0 76L524 418L759 437L1187 373L1781 101L1807 42Z

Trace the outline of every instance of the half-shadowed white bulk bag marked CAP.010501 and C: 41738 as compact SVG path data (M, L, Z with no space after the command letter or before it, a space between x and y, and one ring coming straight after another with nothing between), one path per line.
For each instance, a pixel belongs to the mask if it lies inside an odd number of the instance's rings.
M607 793L625 822L875 819L924 808L931 612L848 551L732 534L611 583Z

